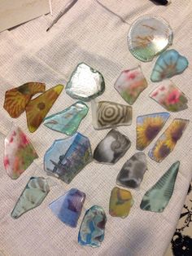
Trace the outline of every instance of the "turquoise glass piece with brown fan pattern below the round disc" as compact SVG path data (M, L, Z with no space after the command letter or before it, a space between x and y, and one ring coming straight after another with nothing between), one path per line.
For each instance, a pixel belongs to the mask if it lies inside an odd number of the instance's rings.
M159 82L181 74L188 67L188 64L188 60L181 56L178 51L165 51L156 60L155 67L151 73L151 81Z

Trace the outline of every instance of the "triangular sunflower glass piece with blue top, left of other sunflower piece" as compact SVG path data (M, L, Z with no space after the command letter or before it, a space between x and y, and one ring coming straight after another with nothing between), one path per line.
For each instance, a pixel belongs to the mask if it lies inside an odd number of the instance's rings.
M145 149L170 117L169 113L154 113L137 117L137 150Z

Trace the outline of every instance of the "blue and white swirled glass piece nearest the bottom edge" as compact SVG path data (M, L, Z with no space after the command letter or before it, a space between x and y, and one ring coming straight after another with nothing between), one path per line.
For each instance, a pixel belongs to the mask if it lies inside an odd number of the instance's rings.
M101 206L94 205L85 212L82 220L78 243L91 247L99 247L105 235L107 216Z

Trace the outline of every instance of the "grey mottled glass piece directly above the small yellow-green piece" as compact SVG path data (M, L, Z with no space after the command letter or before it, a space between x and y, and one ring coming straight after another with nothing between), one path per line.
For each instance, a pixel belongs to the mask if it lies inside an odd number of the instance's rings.
M146 155L143 152L137 152L124 163L117 175L116 183L125 188L139 188L146 170Z

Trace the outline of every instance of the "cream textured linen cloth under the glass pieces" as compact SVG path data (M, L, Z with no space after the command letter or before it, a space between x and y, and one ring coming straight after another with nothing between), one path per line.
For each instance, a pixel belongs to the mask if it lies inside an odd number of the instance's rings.
M68 0L53 1L54 14L58 14ZM99 3L100 2L100 3ZM170 47L185 55L192 62L191 27L192 2L172 0L168 7L157 6L149 0L79 0L57 24L46 33L53 18L50 15L32 20L11 31L0 33L0 254L6 256L32 255L163 255L177 226L185 196L191 180L191 123L185 130L174 151L162 163L147 157L148 170L140 190L130 190L134 205L128 218L112 218L108 214L111 189L116 186L116 175L124 162L136 152L136 117L146 113L164 111L159 104L149 98L156 87L150 80L155 60L141 63L129 53L127 34L129 25L140 15L160 15L168 20L174 32ZM90 163L69 185L51 178L50 193L45 201L34 210L18 219L11 218L11 210L25 184L32 175L47 177L43 170L43 156L55 139L65 135L41 127L33 134L28 132L25 113L11 119L3 109L5 91L24 82L46 82L46 88L58 83L64 85L76 64L85 62L98 69L105 78L106 90L99 100L111 100L125 104L114 89L114 82L125 68L142 65L149 86L133 104L133 124L118 128L128 135L132 142L129 151L115 166ZM185 73L172 77L172 81L192 99L191 64ZM50 114L57 113L76 102L63 90ZM89 103L88 103L89 104ZM90 104L89 104L90 107ZM173 118L191 119L192 105L171 117L160 134ZM11 180L2 164L3 143L11 128L11 123L20 126L37 149L39 158L20 176ZM109 130L94 130L91 124L91 111L81 122L79 131L89 137L92 149L103 139ZM157 137L158 138L158 137ZM157 139L156 138L156 139ZM155 141L154 141L155 142ZM154 143L153 142L153 143ZM144 152L148 153L151 145ZM143 211L139 208L142 196L164 174L175 161L181 161L175 189L168 206L162 214ZM84 209L78 226L71 228L52 214L48 205L70 188L78 188L86 194ZM107 213L105 239L100 248L92 249L78 245L77 236L85 210L92 205L101 205Z

